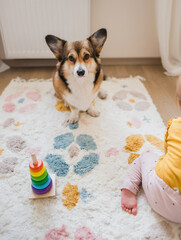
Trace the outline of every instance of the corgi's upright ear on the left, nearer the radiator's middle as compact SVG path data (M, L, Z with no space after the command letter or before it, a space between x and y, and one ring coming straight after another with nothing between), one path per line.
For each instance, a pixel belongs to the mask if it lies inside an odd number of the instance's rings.
M53 35L47 35L45 37L46 43L48 44L50 50L54 53L55 57L61 61L63 57L63 48L66 43L65 40L62 40Z

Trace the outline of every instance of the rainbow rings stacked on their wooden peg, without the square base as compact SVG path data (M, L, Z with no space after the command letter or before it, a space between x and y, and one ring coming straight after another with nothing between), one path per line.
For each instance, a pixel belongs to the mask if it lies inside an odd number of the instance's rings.
M49 192L52 187L52 179L43 161L36 159L35 155L32 155L32 159L29 164L32 190L36 194L45 194Z

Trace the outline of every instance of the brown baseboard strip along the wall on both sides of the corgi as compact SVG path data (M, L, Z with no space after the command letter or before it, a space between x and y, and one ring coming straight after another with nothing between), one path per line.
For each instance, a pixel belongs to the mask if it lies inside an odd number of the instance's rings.
M56 59L4 59L10 67L55 67ZM102 65L160 65L160 58L102 58Z

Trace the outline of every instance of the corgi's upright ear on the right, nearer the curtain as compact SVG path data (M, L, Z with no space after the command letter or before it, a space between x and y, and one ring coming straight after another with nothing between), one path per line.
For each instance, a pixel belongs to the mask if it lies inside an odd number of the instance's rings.
M107 30L105 28L99 29L97 32L93 33L88 38L88 40L92 43L92 46L98 56L106 41L106 38L107 38Z

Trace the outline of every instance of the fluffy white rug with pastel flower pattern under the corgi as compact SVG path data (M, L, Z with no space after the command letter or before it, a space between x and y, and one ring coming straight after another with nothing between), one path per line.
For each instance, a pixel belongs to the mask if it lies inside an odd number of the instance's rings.
M65 125L69 112L55 108L51 80L17 78L5 89L0 98L1 240L179 239L180 226L153 212L142 191L137 216L121 209L130 156L125 139L141 134L145 143L138 154L162 154L145 138L163 140L159 113L139 77L109 79L103 88L108 98L97 100L100 117L81 113L78 125L70 126ZM30 153L56 173L55 199L29 200Z

